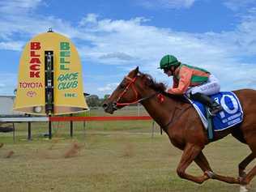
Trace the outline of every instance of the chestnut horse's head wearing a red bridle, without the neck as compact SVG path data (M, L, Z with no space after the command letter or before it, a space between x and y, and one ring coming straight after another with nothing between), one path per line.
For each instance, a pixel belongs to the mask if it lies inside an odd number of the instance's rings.
M105 100L102 107L105 109L106 113L112 114L115 110L137 102L140 99L138 88L135 87L138 86L138 73L139 66L134 70L131 70L117 86L111 96Z

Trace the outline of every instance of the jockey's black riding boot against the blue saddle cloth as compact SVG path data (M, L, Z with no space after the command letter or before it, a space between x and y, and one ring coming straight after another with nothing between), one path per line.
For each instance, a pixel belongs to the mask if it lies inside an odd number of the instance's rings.
M190 93L190 99L197 100L203 103L203 105L207 105L211 116L215 116L216 113L219 113L220 111L223 110L220 104L218 104L215 100L211 100L211 97L206 96L203 93L200 93L200 92L196 92L194 94Z

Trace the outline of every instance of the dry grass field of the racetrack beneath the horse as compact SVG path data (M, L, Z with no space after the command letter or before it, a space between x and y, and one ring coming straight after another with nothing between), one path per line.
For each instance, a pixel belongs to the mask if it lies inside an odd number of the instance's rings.
M116 115L134 115L122 110ZM143 109L141 114L145 114ZM91 111L90 115L105 115ZM177 177L181 151L173 147L158 127L152 137L150 121L53 123L53 139L44 137L45 123L16 124L12 133L0 133L0 191L239 191L239 186L209 180L203 185ZM204 150L216 173L237 177L237 164L249 154L245 145L228 136ZM255 164L250 164L249 169ZM201 175L195 164L189 173ZM250 191L256 192L256 179Z

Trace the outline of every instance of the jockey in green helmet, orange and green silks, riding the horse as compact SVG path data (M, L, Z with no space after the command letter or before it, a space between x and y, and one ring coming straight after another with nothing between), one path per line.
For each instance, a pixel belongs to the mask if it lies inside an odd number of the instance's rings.
M183 64L173 55L165 55L159 68L164 70L164 74L173 76L173 87L167 91L170 94L186 94L190 99L198 100L207 105L211 116L223 110L220 104L209 97L220 92L220 83L207 70Z

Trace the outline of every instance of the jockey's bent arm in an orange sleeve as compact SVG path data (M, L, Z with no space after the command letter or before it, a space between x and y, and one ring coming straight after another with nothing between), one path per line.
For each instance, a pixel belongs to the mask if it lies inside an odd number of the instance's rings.
M173 95L185 94L188 87L190 87L192 70L181 68L179 75L180 75L180 80L178 82L177 87L173 87L168 90L170 94L173 94Z

